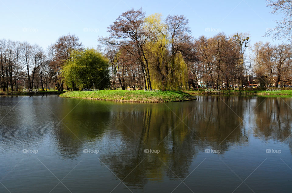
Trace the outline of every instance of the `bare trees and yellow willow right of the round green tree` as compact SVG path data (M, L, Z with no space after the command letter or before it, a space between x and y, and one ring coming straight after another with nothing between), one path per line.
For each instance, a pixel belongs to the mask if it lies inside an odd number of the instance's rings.
M195 38L188 24L189 20L183 15L168 15L165 19L161 14L146 17L142 8L120 15L108 27L109 37L99 38L106 46L105 55L111 63L113 89L127 86L150 90L200 89L202 86L235 89L252 83L266 87L278 86L279 82L291 83L290 53L286 59L280 59L283 61L279 64L278 56L263 55L262 48L257 49L261 42L250 46L246 33L227 36L221 32L213 37ZM254 53L249 60L246 59L248 47ZM269 48L281 55L280 47L286 47L282 50L286 52L290 45ZM257 58L259 55L266 57L269 64Z

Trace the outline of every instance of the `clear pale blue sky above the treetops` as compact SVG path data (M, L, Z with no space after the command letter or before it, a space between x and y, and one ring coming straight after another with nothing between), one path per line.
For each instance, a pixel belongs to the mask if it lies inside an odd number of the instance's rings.
M265 0L109 0L109 1L12 1L0 0L0 39L37 43L44 49L58 37L77 35L85 47L96 48L99 36L130 8L143 8L146 15L185 15L194 37L248 32L251 43L273 40L262 37L275 27L280 15L271 14ZM210 32L206 30L210 28ZM279 43L280 41L274 42Z

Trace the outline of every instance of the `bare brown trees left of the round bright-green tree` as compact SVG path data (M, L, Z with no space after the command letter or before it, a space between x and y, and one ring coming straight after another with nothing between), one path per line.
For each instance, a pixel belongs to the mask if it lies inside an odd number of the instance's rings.
M39 45L28 42L0 40L0 86L3 91L17 91L22 88L41 88L54 85L64 90L61 70L72 60L74 50L82 49L75 35L64 35L47 51Z

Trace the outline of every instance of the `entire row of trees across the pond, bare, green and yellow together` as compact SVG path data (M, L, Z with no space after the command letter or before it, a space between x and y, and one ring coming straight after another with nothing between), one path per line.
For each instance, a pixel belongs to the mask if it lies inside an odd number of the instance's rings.
M46 51L28 42L0 40L2 90L235 89L250 85L251 76L264 87L292 83L290 44L249 45L246 33L195 38L185 16L146 17L142 8L122 13L108 32L109 37L98 38L103 51L84 48L71 34Z

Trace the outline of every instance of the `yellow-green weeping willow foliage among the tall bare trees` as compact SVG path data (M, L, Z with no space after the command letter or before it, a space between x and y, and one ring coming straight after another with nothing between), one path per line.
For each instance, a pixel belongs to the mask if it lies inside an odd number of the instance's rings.
M180 52L169 52L169 37L161 14L145 18L145 30L149 40L145 44L145 54L149 58L149 71L152 88L160 90L177 90L186 88L187 65Z

